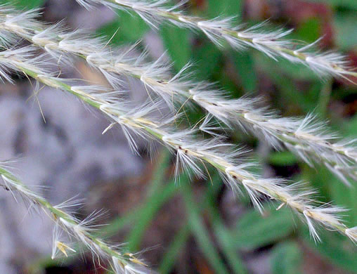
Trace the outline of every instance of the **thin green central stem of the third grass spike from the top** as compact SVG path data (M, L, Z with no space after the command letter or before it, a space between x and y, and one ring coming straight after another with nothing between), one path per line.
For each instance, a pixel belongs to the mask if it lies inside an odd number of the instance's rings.
M8 60L9 61L9 60ZM241 169L239 172L235 171L235 166L231 164L231 162L227 162L226 159L223 159L220 155L214 154L214 152L205 152L205 150L193 150L193 149L187 149L183 148L181 145L180 141L170 141L167 140L167 138L164 138L165 136L170 136L171 132L166 132L164 129L161 129L159 124L155 124L155 122L150 121L150 119L146 118L133 118L133 117L128 117L126 116L126 112L122 110L118 110L117 108L113 112L110 110L110 107L106 108L105 110L102 109L102 105L110 105L110 103L106 102L102 98L96 98L95 96L92 96L89 93L86 93L85 89L81 91L79 88L74 89L72 86L63 83L63 79L60 78L53 78L53 77L46 77L44 74L39 74L37 72L34 72L30 68L26 67L25 64L19 65L20 61L17 59L14 60L13 65L17 67L17 69L20 72L23 72L31 77L34 77L34 79L37 79L37 81L40 81L41 83L45 84L46 86L51 86L56 89L61 89L63 91L72 93L74 96L77 96L79 99L84 100L84 102L88 103L89 105L96 107L98 110L102 111L105 113L105 115L108 115L111 119L115 117L115 122L120 122L121 124L123 123L128 123L129 126L140 129L143 131L146 131L149 133L149 135L157 138L160 140L162 143L167 145L168 148L174 148L175 150L182 150L185 154L190 155L190 157L193 157L194 159L199 159L201 162L206 162L208 164L211 164L213 167L218 169L219 171L222 172L222 174L229 174L231 178L234 179L234 181L238 181L240 183L242 182L249 182L253 181L254 183L251 183L249 185L249 188L254 189L255 191L258 191L259 193L265 193L272 199L278 200L280 202L283 202L283 204L287 204L296 211L300 212L301 214L309 214L309 218L313 218L319 223L328 223L329 226L334 228L335 230L346 234L346 226L344 226L343 223L334 223L330 222L329 220L325 220L322 218L319 218L316 214L312 214L311 209L314 207L306 207L304 204L300 204L299 202L295 201L293 197L290 194L287 194L284 190L280 190L279 188L270 188L270 184L264 184L260 183L260 179L256 178L254 174L251 174L245 169ZM20 63L21 64L21 63ZM37 71L39 69L37 68ZM121 117L124 117L124 119L120 120ZM264 191L262 191L262 189Z

